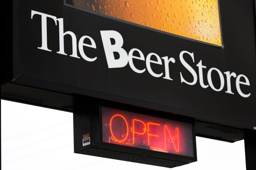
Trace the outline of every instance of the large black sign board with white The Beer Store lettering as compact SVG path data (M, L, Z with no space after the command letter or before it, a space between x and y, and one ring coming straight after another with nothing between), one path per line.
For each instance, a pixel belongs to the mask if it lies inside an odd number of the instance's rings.
M66 111L118 102L193 118L197 135L231 142L256 128L253 0L219 2L218 47L72 2L13 1L2 98Z

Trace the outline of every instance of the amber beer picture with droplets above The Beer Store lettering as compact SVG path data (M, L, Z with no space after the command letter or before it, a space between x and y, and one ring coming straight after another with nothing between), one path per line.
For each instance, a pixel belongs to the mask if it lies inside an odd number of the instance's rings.
M222 46L218 0L73 0L74 6Z

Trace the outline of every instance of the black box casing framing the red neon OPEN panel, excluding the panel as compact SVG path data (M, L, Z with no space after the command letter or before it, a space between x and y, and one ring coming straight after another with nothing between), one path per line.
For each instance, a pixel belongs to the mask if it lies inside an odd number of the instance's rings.
M193 157L164 153L142 148L135 148L130 146L122 146L118 144L104 143L102 142L102 105L112 108L125 109L115 105L106 105L101 103L100 105L92 105L84 108L83 110L74 111L75 153L163 166L168 168L173 168L176 166L181 166L197 161L196 136L193 121L179 118L177 119L177 116L172 116L172 120L193 124L194 146L193 148L191 148L192 150L194 150ZM131 110L139 111L136 108L130 108L129 111ZM141 113L143 114L143 112ZM166 118L165 114L156 114L156 112L154 111L148 111L146 115ZM85 145L84 140L88 142L89 138L91 142Z

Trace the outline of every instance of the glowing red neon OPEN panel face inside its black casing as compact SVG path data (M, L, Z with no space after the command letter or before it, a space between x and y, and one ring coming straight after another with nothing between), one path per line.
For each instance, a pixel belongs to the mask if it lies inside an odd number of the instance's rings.
M102 107L105 143L194 157L192 124Z

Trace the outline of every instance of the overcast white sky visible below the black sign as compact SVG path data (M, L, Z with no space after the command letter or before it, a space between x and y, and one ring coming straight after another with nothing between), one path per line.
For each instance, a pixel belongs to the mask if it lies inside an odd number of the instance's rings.
M226 143L197 137L198 161L172 170L245 170L244 141ZM2 170L167 170L73 150L73 114L1 100Z

